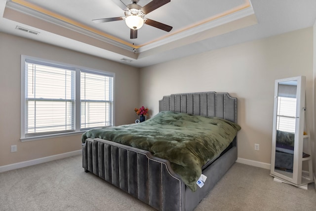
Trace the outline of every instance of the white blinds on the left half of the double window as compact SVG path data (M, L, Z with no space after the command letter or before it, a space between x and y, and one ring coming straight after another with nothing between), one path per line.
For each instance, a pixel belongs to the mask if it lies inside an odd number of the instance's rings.
M75 130L75 71L26 60L25 134Z

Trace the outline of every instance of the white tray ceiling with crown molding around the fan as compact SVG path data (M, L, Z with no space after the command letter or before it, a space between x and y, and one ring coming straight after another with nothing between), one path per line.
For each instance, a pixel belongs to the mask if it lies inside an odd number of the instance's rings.
M138 4L150 1L139 0ZM145 18L173 29L168 33L144 25L137 39L129 38L124 21L91 21L123 16L124 11L112 0L0 0L0 32L134 67L313 26L316 0L171 0ZM16 26L39 34L16 30Z

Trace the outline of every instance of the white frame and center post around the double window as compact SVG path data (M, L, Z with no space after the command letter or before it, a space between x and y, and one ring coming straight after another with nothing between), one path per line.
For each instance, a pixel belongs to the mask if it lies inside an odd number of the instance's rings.
M75 70L75 106L74 106L74 126L75 130L70 132L56 132L53 134L47 133L39 136L33 136L33 137L26 137L25 134L25 120L26 120L26 79L25 79L25 68L26 68L26 60L36 61L38 63L42 63L43 65L49 64L55 67L61 67L68 70ZM115 125L115 73L114 72L108 72L104 70L94 70L91 68L85 68L80 67L76 65L70 65L66 63L60 63L55 62L51 60L21 55L21 128L20 128L20 140L21 141L34 141L34 140L42 140L42 139L48 139L48 138L55 138L55 137L65 137L65 136L73 136L78 134L83 134L85 131L91 129L80 129L80 118L81 118L81 101L80 101L80 73L81 72L88 72L93 74L100 74L104 76L110 76L113 77L113 83L112 83L112 112L110 112L111 118L112 118L112 124Z

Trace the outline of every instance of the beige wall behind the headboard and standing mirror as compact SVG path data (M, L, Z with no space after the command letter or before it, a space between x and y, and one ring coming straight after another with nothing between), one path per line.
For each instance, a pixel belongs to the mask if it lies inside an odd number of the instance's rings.
M238 98L238 157L270 164L275 80L298 75L307 78L312 108L312 27L143 68L141 103L156 114L164 95L229 92ZM313 109L307 112L312 117Z

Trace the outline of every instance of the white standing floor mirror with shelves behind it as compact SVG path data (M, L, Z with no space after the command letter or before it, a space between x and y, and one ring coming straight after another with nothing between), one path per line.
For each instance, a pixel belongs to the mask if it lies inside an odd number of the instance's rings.
M305 76L278 79L275 82L271 176L279 181L301 186L313 181L312 169L302 176L303 161L311 153L303 152L305 128Z

